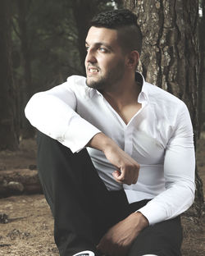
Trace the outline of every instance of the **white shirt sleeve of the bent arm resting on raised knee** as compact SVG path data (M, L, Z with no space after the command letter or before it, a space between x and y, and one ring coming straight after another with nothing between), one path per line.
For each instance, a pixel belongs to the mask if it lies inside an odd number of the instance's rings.
M25 117L31 125L70 148L80 151L100 132L75 112L75 93L66 83L54 89L34 94L25 107Z

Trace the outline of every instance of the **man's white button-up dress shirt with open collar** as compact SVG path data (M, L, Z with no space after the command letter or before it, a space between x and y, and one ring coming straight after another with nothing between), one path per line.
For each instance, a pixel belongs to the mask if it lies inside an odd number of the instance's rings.
M25 116L44 134L57 139L73 153L99 132L112 138L139 162L139 179L120 185L112 177L116 167L103 152L88 148L94 167L108 190L125 190L129 203L152 199L139 211L150 225L176 217L194 201L193 129L185 103L150 85L144 77L138 102L142 104L126 125L85 77L72 75L62 85L34 94Z

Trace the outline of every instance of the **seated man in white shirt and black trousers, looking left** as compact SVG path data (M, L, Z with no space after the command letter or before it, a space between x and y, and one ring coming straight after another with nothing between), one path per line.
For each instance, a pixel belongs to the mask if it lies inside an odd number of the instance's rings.
M180 255L179 215L194 201L187 107L135 72L141 34L130 11L94 17L85 46L87 77L25 108L41 131L39 177L60 254Z

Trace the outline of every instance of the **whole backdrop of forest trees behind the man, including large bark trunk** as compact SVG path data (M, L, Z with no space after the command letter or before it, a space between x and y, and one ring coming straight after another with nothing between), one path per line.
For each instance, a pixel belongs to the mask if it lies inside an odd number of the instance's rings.
M84 75L90 18L120 7L134 11L144 34L140 71L185 101L199 138L205 117L204 0L1 0L0 5L0 150L34 137L24 115L30 96L69 75ZM196 176L202 203L197 171Z

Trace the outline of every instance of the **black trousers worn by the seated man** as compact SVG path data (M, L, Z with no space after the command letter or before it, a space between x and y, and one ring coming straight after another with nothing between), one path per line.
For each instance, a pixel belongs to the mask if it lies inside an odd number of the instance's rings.
M107 229L144 206L129 204L125 191L108 191L86 149L72 153L57 140L38 134L38 169L54 217L54 238L60 255L96 251ZM129 256L180 255L180 217L148 226L134 240Z

